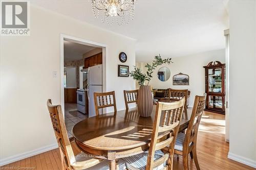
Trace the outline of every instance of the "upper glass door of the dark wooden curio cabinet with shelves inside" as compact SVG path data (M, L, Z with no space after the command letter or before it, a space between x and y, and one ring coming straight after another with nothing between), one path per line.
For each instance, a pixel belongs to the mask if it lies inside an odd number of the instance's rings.
M209 92L222 93L222 71L221 67L208 69Z

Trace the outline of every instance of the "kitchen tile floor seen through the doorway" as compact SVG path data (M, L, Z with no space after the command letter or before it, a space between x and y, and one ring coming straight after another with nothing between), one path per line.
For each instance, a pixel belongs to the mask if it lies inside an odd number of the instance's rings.
M88 118L88 114L83 114L77 110L76 104L65 103L65 125L68 131L68 136L72 137L73 126L83 119Z

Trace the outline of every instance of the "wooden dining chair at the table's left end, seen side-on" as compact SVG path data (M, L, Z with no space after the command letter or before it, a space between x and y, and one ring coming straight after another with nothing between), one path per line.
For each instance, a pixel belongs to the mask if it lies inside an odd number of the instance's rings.
M74 138L71 140L68 138L61 106L52 105L51 99L48 99L47 107L50 113L53 130L59 145L62 169L97 169L98 167L108 169L109 162L107 160L92 158L83 152L76 156L74 155L71 146L71 142Z

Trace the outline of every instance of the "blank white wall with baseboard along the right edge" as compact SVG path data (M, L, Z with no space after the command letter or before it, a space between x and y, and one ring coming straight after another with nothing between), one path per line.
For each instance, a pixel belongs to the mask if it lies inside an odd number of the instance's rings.
M256 167L256 1L229 1L229 154Z

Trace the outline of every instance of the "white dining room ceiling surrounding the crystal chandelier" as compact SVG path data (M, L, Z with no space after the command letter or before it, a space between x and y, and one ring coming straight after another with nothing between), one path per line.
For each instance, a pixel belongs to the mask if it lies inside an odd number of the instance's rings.
M138 0L135 19L123 26L96 19L90 0L33 4L136 39L137 61L151 60L159 53L180 57L219 50L225 47L223 30L229 28L226 0Z

